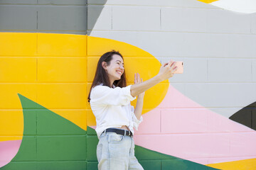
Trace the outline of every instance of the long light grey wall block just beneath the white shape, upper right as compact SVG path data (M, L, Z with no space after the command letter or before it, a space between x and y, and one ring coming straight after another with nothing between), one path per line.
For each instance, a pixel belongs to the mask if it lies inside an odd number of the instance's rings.
M220 9L161 8L161 29L202 33L250 33L250 16Z

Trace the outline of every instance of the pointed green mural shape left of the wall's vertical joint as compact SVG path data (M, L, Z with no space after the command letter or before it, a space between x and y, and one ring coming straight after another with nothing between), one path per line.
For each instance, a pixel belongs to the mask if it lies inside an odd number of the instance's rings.
M86 169L86 131L25 96L18 94L18 97L20 98L23 108L23 140L14 159L0 169L27 170L33 169L31 167L34 167L34 164L22 164L22 166L17 166L17 163L35 161L36 164L41 164L41 161L60 159L82 161L82 167ZM36 123L39 124L36 126L36 135L28 136L28 134L35 132L31 130L31 128L35 127L35 120L37 120ZM26 167L26 165L28 165L28 167ZM70 169L77 169L77 165L73 165L74 167L70 164ZM58 169L65 168L65 164L58 166Z

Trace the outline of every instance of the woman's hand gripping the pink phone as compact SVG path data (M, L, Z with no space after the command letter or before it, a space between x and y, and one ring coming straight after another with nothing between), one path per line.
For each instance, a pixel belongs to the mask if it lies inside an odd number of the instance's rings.
M170 60L169 62L166 62L161 65L159 74L157 74L157 76L161 79L161 81L170 79L174 76L174 72L176 71L176 69L176 62Z

